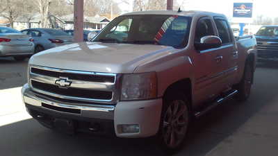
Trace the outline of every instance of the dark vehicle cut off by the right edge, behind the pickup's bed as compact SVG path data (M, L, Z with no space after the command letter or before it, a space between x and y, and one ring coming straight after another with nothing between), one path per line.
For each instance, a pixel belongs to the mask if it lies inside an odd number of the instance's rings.
M255 35L258 58L278 59L278 26L262 26Z

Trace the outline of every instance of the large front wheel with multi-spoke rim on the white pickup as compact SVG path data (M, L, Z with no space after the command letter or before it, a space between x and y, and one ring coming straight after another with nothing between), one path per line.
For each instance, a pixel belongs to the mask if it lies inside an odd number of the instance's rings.
M189 105L188 98L183 94L169 95L163 100L157 139L168 154L177 152L184 143L190 123Z

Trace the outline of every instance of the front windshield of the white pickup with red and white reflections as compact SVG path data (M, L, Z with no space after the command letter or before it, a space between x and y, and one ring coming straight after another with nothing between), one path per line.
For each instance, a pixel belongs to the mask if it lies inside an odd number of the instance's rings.
M188 42L190 21L190 17L172 15L121 16L111 21L93 41L180 48Z

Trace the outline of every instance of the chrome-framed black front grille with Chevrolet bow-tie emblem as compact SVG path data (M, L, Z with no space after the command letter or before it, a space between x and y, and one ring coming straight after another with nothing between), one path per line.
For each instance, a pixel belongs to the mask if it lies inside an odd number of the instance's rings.
M73 71L49 67L30 67L34 92L72 101L115 104L119 76L115 73Z

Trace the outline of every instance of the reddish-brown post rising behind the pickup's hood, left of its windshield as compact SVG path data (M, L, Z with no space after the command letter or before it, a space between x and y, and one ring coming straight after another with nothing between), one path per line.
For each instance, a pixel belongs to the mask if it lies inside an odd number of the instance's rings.
M83 3L74 0L74 42L83 42Z

